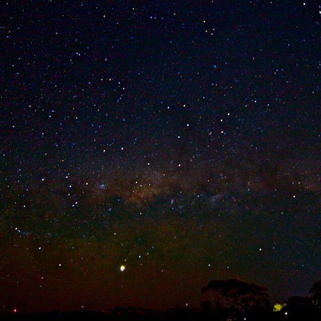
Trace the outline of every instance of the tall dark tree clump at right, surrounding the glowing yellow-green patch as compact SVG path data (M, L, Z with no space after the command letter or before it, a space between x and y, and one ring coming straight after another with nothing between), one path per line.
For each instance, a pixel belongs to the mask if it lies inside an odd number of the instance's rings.
M306 296L270 303L266 287L237 279L213 280L202 289L203 314L213 320L321 320L321 281Z

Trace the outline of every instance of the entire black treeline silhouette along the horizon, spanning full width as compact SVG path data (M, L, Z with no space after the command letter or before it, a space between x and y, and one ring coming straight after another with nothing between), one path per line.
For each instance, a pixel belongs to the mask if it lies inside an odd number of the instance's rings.
M7 313L11 321L318 321L321 320L321 281L315 282L306 296L292 296L271 305L267 288L237 279L212 280L202 289L207 300L199 309L173 308L166 312L136 307L116 307L108 312Z

